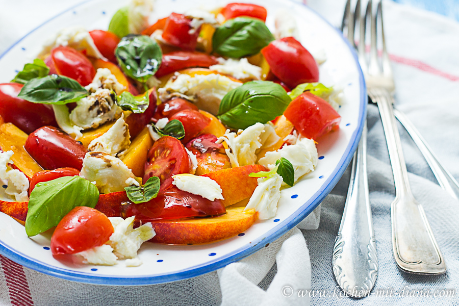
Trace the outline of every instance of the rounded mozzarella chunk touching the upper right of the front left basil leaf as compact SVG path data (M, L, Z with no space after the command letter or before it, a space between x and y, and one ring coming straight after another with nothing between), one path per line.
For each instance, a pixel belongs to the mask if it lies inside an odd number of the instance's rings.
M80 176L95 182L100 193L124 191L124 187L140 186L131 169L105 152L88 152L83 159Z

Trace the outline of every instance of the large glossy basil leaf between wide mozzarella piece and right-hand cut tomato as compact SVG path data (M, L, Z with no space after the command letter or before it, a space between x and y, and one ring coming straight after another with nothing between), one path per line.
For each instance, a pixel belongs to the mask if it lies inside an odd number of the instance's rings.
M252 81L228 92L220 103L218 118L232 129L246 129L281 116L291 99L285 89L268 81Z

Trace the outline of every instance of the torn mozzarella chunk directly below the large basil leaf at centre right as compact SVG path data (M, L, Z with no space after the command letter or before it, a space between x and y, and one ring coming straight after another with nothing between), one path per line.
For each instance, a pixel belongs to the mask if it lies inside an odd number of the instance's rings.
M225 152L232 167L252 165L257 161L255 151L262 146L260 135L263 132L265 125L257 122L238 133L239 135L226 130L226 133L218 138L219 142L224 141L229 147Z

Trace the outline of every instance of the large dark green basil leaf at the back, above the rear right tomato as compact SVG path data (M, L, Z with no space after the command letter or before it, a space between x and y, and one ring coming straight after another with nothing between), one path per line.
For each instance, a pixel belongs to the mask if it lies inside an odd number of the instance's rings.
M237 17L215 30L212 47L220 55L241 58L259 53L273 40L274 36L263 21Z

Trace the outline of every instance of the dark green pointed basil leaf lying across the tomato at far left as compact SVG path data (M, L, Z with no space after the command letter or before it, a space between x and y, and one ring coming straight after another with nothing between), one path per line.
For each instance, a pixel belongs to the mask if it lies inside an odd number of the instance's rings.
M51 74L25 83L17 96L33 103L59 105L78 101L88 94L77 81Z

